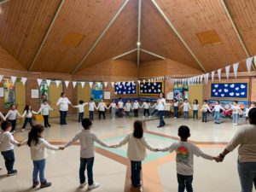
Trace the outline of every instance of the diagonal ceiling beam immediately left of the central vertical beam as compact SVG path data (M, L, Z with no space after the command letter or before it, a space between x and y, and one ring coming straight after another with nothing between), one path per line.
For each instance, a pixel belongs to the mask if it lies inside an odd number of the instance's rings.
M125 0L125 3L122 4L122 6L120 7L120 9L117 11L117 13L113 16L112 20L109 21L108 26L106 26L104 28L104 30L102 31L102 33L100 34L100 36L96 39L96 42L90 47L89 51L83 56L82 60L79 61L79 64L74 68L72 74L76 73L80 67L82 67L84 61L87 59L87 57L90 55L90 53L93 51L93 49L96 48L96 45L102 40L102 38L104 37L104 35L106 34L106 32L108 32L108 29L110 28L110 26L112 26L113 22L119 17L120 13L123 11L123 9L125 9L126 4L129 2L130 0Z

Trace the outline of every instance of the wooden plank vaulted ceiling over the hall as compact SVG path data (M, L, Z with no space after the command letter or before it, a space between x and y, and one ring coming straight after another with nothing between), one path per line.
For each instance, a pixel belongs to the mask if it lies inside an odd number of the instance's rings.
M86 73L137 49L138 1L9 0L0 5L0 46L26 70ZM141 48L211 72L256 55L255 10L255 0L143 0ZM139 53L141 62L159 59ZM120 59L137 61L137 51Z

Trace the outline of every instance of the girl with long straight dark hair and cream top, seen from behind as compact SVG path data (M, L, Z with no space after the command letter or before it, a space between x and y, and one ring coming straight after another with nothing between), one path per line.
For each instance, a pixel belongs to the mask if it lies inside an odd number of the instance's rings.
M136 120L133 124L133 132L129 133L121 142L112 145L113 148L119 148L128 143L127 157L131 160L131 183L134 187L140 187L142 161L146 157L146 148L151 151L157 151L143 137L143 122Z

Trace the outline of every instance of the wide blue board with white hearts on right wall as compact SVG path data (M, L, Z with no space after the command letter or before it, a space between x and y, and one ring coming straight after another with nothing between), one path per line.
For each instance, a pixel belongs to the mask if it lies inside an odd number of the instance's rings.
M247 98L247 83L212 84L211 96L218 98Z

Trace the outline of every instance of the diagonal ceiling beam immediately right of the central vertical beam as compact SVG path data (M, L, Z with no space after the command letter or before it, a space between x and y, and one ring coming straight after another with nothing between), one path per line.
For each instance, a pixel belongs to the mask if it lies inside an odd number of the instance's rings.
M185 40L182 38L182 36L179 34L179 32L177 32L176 27L172 24L171 20L168 19L168 17L166 16L166 14L163 12L162 9L160 9L160 6L155 2L155 0L151 0L151 2L154 4L154 7L159 11L160 15L164 18L164 20L166 20L166 23L172 28L172 31L176 34L177 38L181 41L181 43L183 44L183 46L189 51L190 55L193 56L193 58L195 59L195 61L197 62L197 64L201 67L201 69L207 73L207 70L205 69L205 67L202 65L201 61L199 61L199 59L197 58L197 56L194 54L194 52L192 51L192 49L189 48L189 45L185 42Z

